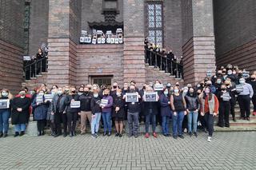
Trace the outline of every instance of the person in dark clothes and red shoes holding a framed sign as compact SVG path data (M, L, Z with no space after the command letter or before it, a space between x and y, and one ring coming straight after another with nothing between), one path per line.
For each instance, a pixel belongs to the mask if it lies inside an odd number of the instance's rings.
M154 92L153 88L148 86L146 88L146 93L152 93L152 92ZM155 132L155 128L156 128L156 115L158 114L158 102L157 101L159 101L159 97L158 97L158 93L155 93L155 96L152 96L152 97L155 97L154 101L153 100L146 101L146 95L147 95L146 93L143 96L144 111L145 111L144 113L146 116L146 124L145 124L146 135L145 135L145 137L146 138L150 137L149 128L150 128L150 120L151 120L153 136L156 138L156 137L158 137L157 133Z

